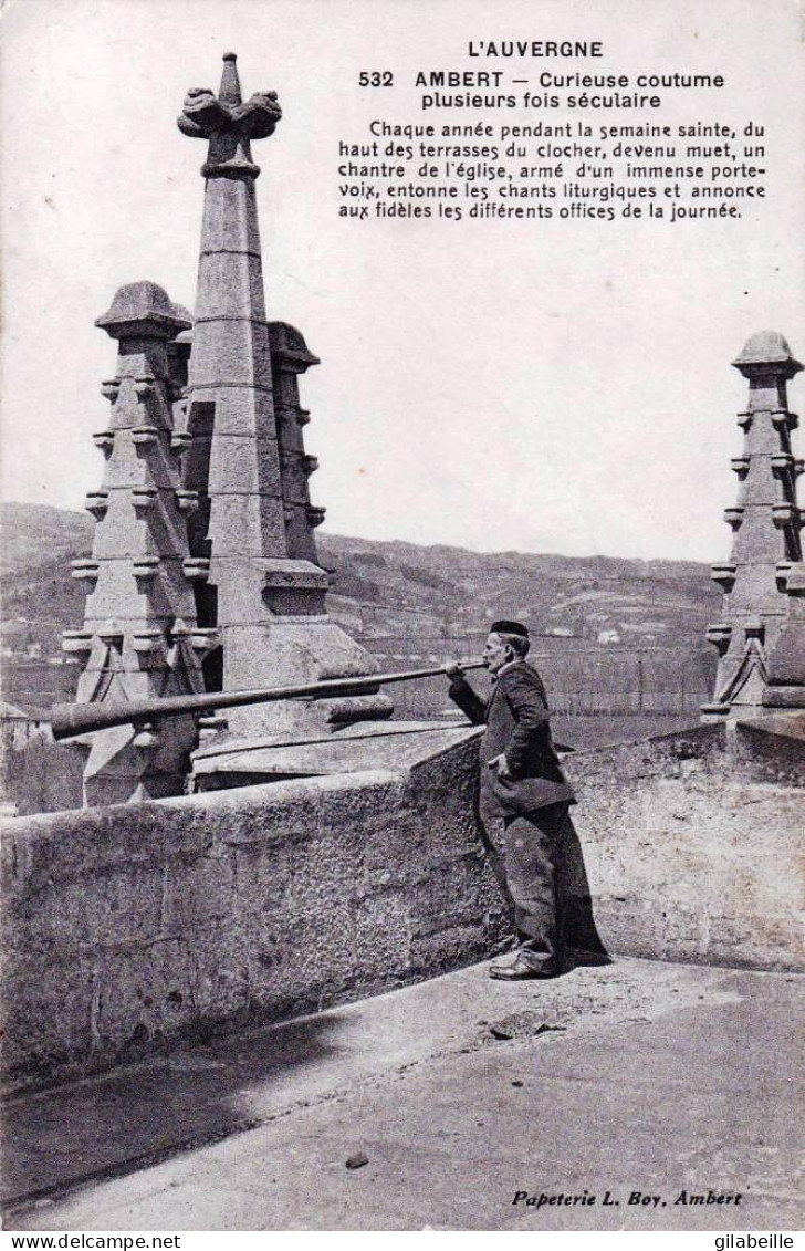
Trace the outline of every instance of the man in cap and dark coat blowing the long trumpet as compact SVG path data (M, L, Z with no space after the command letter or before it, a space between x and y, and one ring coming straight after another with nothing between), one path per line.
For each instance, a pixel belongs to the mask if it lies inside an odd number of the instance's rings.
M460 664L446 667L450 698L474 724L486 723L480 813L490 839L502 842L518 931L514 962L492 965L490 977L511 982L560 972L556 871L564 843L572 837L568 809L575 803L551 742L542 679L525 661L529 647L528 628L520 622L492 622L484 648L492 676L486 704Z

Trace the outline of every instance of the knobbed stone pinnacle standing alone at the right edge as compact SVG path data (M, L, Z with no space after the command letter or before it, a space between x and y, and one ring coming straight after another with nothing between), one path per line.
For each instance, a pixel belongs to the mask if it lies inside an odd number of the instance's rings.
M788 408L788 383L802 367L772 330L754 334L732 364L749 380L749 403L738 418L744 449L732 459L739 498L724 514L734 530L732 550L712 569L725 594L722 619L708 631L719 649L715 697L702 709L709 718L759 712L779 702L775 686L799 684L805 692L802 514L796 503L802 462L791 452L798 418ZM799 678L791 672L796 638Z

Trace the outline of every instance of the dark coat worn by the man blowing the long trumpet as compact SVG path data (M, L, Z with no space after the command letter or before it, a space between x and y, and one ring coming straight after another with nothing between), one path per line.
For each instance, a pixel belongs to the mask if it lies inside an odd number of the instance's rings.
M536 669L525 661L505 666L486 703L465 678L456 678L450 698L475 726L486 722L480 747L481 816L511 817L549 803L575 803L551 742L548 698ZM510 778L488 764L501 752Z

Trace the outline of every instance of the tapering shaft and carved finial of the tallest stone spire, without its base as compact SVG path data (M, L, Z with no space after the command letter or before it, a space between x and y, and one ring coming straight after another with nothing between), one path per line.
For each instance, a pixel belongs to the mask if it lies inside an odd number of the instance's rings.
M184 134L209 140L185 480L204 497L191 528L195 554L214 552L219 564L230 553L288 553L255 198L260 169L251 160L251 140L271 135L280 118L275 91L242 104L234 53L224 58L219 96L190 91L179 118Z

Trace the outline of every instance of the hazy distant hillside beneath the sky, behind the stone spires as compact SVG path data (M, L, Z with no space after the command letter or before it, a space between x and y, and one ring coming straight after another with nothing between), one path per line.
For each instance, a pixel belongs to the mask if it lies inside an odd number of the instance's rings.
M70 560L88 555L92 520L40 504L1 505L0 646L6 698L48 703L74 684L61 631L80 626L84 592ZM332 577L330 610L365 642L411 642L484 631L518 617L534 634L584 638L612 648L701 648L719 593L705 564L606 557L480 553L319 534ZM40 677L36 677L39 671Z

